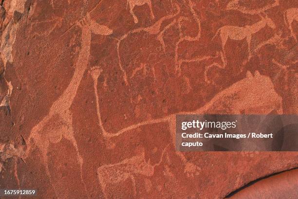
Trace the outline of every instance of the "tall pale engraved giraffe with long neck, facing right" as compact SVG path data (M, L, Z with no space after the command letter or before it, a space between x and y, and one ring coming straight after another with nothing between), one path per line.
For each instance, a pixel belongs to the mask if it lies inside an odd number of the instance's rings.
M82 30L81 50L75 64L75 72L71 82L64 92L59 96L59 98L53 103L49 113L35 127L32 128L28 139L29 141L33 140L34 144L40 150L41 158L43 164L45 165L46 174L50 178L50 181L51 175L47 158L48 147L50 143L59 143L62 138L69 140L75 147L78 163L81 169L81 180L83 181L83 159L79 155L79 149L75 141L74 129L72 125L73 117L70 108L75 99L75 95L83 74L89 64L88 60L90 56L92 33L97 35L112 34L111 29L109 29L107 26L97 24L95 21L90 19L89 15L80 20L77 25L81 27ZM30 153L30 147L28 148L27 155L28 153ZM53 188L55 189L55 187Z

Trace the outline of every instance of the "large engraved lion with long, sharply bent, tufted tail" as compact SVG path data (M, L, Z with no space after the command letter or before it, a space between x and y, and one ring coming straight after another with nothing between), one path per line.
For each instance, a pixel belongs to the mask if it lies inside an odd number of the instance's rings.
M192 111L177 112L161 118L150 119L124 127L117 132L108 132L103 126L97 90L97 79L101 72L101 69L93 68L91 75L93 78L99 127L105 139L120 136L123 133L128 133L130 130L144 125L168 123L169 131L172 136L172 144L175 145L176 114L241 114L243 112L247 114L268 114L272 110L276 110L279 114L282 113L282 99L274 90L271 79L261 75L258 71L255 73L255 76L247 72L246 78L216 94L213 99L202 108ZM187 176L193 176L193 173L198 174L201 170L198 166L188 162L183 153L176 151L176 154L185 164L185 173Z

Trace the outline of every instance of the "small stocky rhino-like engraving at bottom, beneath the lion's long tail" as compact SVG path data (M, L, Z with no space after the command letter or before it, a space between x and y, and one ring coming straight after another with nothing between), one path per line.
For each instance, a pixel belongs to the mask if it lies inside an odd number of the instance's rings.
M129 159L125 159L119 163L100 166L97 169L97 175L105 198L108 198L106 194L108 184L123 183L127 179L131 180L133 194L136 196L137 191L134 175L137 174L146 177L153 176L154 168L162 163L166 150L167 147L162 152L159 162L153 165L150 164L150 160L146 162L145 151L143 151L140 154Z

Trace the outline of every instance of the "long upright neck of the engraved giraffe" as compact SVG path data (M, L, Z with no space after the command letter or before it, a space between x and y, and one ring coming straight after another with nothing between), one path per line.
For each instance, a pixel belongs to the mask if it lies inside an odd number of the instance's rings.
M90 44L91 44L91 31L88 27L82 28L81 36L81 50L78 55L78 59L75 64L75 72L69 83L68 87L54 102L50 109L51 113L62 112L69 109L75 99L76 92L78 90L81 79L86 71L89 63L90 56Z

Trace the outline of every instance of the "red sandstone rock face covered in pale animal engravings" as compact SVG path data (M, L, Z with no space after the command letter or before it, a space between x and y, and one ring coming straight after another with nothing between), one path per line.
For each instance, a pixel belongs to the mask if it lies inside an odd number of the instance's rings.
M174 145L179 112L298 113L297 0L0 0L0 25L0 188L223 199L298 166Z

